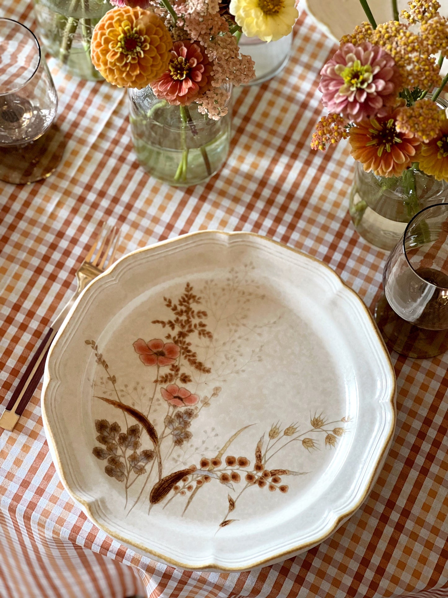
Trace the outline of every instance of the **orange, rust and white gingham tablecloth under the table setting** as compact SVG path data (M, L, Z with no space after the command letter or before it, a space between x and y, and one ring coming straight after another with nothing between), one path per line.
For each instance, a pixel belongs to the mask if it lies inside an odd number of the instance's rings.
M0 13L35 26L26 0L4 0ZM123 90L67 77L50 60L65 158L47 181L0 182L4 405L29 351L75 289L75 270L101 221L121 227L122 253L206 228L264 234L325 261L367 306L375 304L386 255L352 228L348 148L309 148L322 110L318 73L334 50L302 12L283 73L235 93L225 167L188 190L139 167ZM54 470L39 385L16 429L0 438L1 597L448 596L448 359L392 360L398 425L369 499L319 546L246 573L159 565L91 524Z

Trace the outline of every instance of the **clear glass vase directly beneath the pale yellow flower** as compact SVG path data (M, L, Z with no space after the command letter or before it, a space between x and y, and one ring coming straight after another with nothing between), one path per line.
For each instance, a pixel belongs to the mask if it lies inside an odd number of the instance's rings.
M255 63L255 78L247 85L263 83L283 71L291 55L292 43L292 32L277 41L270 42L259 38L248 38L243 33L239 42L241 53L248 54Z

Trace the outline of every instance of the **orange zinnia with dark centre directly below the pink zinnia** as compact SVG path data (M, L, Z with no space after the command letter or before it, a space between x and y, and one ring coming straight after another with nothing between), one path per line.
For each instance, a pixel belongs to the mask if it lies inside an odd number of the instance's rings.
M364 164L364 170L373 170L379 176L400 176L416 161L419 140L412 133L395 129L397 110L383 118L363 120L349 130L351 154Z

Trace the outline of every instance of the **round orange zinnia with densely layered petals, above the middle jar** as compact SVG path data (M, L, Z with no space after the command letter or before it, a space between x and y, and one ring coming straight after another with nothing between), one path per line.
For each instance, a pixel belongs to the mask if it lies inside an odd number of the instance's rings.
M141 8L114 8L93 30L91 57L106 81L142 89L160 77L173 47L161 19Z

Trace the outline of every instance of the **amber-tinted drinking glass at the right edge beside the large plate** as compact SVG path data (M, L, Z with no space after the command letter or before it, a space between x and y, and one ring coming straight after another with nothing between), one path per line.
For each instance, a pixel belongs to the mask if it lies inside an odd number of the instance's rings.
M416 214L392 251L375 318L389 349L413 358L448 348L448 204Z

